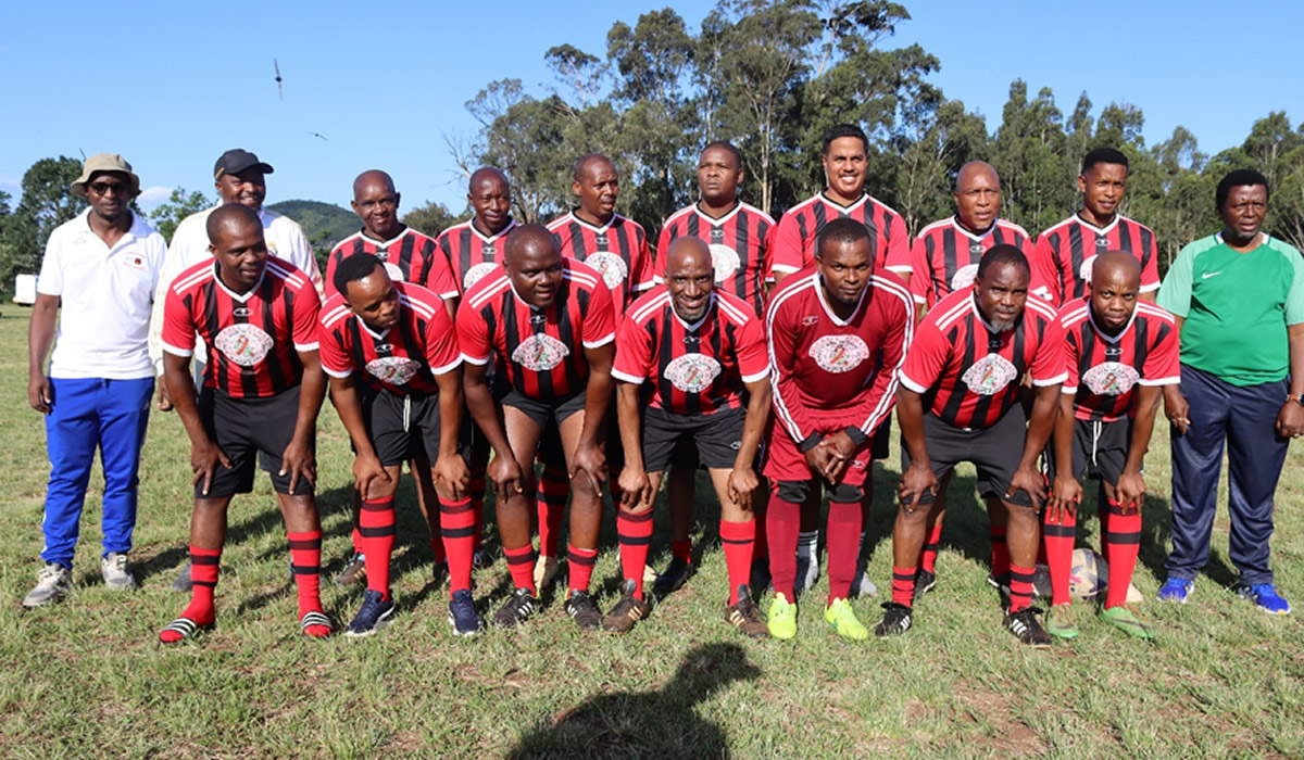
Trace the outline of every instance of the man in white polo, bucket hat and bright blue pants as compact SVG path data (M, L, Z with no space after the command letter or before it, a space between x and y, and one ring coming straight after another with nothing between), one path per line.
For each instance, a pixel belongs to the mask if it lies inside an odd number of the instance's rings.
M100 572L110 588L136 588L126 553L154 392L150 299L166 244L129 207L141 181L123 156L90 156L72 189L90 209L50 235L27 330L27 400L46 415L51 464L42 525L44 566L22 601L29 609L61 600L72 585L73 548L96 447L104 465ZM47 373L51 342L55 352Z

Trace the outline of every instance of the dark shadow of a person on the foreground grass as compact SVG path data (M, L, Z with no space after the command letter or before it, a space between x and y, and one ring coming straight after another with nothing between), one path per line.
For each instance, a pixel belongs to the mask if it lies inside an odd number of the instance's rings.
M728 757L724 730L702 720L694 705L760 675L737 644L703 644L662 688L589 697L540 721L509 757Z

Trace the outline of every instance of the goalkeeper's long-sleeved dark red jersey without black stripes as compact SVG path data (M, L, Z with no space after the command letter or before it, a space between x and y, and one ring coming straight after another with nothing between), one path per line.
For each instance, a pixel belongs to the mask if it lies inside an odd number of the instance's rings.
M897 373L914 335L914 302L901 278L879 271L855 313L829 308L816 267L775 291L765 309L775 416L793 441L815 434L815 417L845 415L866 435L892 413Z

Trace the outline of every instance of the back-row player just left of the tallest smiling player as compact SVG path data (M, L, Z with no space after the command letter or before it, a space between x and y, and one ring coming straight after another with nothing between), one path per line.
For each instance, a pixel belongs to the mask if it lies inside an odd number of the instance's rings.
M765 283L776 227L768 214L738 199L742 180L742 155L737 147L729 142L712 142L703 149L698 160L702 199L665 220L657 250L669 250L670 242L681 237L703 240L711 246L716 287L742 299L760 315L765 313ZM686 451L685 459L695 461L691 446ZM659 594L683 585L692 562L692 544L689 538L696 473L692 461L681 463L678 456L672 459L672 559L665 572L657 576ZM756 515L763 516L767 490L760 489L756 495ZM756 525L762 533L756 540L755 555L764 559L764 520L758 520Z

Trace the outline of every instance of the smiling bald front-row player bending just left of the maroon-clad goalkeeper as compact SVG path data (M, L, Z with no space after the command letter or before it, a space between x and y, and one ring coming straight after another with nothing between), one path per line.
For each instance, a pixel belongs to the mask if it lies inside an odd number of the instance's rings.
M602 627L625 634L648 613L643 571L652 502L672 451L691 441L698 452L692 467L707 467L720 498L720 542L729 567L725 621L764 639L765 623L747 587L756 537L751 501L760 482L754 464L771 402L764 330L746 301L715 284L717 270L705 242L679 237L662 250L665 285L630 306L612 370L621 381L617 407L625 438L615 516L625 588Z

